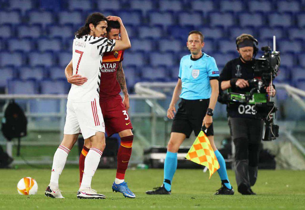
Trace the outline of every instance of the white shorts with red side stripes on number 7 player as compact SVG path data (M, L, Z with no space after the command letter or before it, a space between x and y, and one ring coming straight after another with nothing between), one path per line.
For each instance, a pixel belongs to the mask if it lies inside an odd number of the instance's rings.
M99 106L99 98L91 102L67 102L67 116L64 134L82 133L84 139L94 136L96 132L105 133L105 123Z

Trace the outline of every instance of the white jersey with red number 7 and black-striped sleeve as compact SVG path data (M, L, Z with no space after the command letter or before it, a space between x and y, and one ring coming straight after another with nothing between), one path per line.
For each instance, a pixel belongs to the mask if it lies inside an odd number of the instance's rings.
M88 80L81 86L71 85L68 100L71 102L88 102L99 97L102 55L111 52L115 46L114 39L85 35L74 38L72 63L73 75L80 74Z

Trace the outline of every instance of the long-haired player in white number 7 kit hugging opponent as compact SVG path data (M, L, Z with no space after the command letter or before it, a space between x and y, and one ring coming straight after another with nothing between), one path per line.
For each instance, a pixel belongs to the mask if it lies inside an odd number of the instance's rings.
M121 40L102 37L106 34L107 20L120 22ZM88 81L80 86L71 85L63 141L54 154L51 180L45 190L46 196L64 198L58 186L59 175L63 171L70 149L77 141L81 130L84 139L90 139L92 147L85 159L83 180L77 197L106 198L91 189L91 179L105 149L105 124L99 105L102 54L130 47L127 31L122 20L116 16L106 18L102 13L93 13L87 17L86 24L76 32L72 53L73 74L80 73Z

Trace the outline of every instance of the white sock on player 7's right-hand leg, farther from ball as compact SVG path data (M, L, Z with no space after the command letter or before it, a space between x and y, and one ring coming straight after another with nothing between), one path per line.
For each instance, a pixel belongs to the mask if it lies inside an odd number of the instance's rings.
M84 175L81 181L80 190L85 190L86 188L91 188L91 180L94 173L99 165L103 152L95 147L91 147L84 164Z

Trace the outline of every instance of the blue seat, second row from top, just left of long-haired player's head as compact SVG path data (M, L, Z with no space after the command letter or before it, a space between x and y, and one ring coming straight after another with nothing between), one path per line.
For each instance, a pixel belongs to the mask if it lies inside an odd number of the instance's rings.
M58 23L64 24L84 24L81 11L61 11L58 13Z

